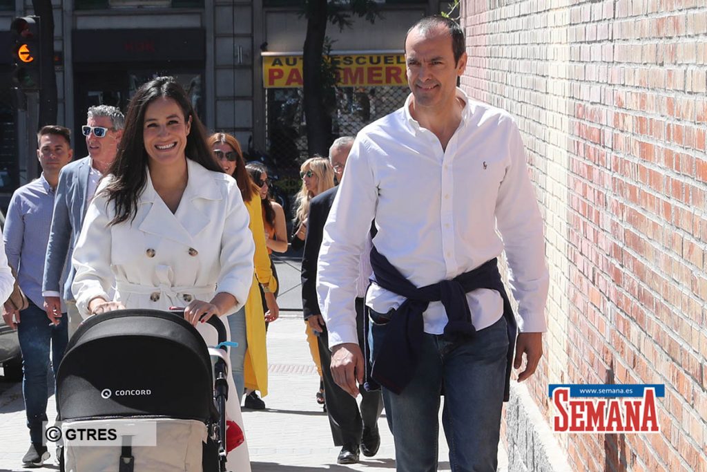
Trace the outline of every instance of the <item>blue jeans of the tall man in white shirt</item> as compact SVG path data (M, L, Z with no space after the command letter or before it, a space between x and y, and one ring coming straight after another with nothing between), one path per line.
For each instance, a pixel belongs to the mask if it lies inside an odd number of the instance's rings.
M370 312L373 355L385 335L387 315ZM399 472L437 470L440 395L442 425L452 471L496 471L506 381L506 318L457 345L425 334L416 373L396 395L382 388Z

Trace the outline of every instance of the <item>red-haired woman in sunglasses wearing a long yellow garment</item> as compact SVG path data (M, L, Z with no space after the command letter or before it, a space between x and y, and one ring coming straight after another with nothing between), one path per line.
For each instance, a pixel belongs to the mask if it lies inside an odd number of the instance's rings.
M255 391L259 390L262 396L267 395L265 323L275 321L280 309L275 298L277 280L273 277L265 243L260 189L253 183L245 168L243 151L240 149L238 139L227 133L214 133L209 137L207 144L221 163L223 171L235 178L245 207L250 214L249 227L251 238L255 242L255 274L245 306L228 318L231 337L238 343L238 347L230 350L230 362L238 401L245 391L245 407L263 410L265 403L258 398ZM260 297L261 288L267 306L265 313L263 313ZM246 357L250 362L245 362Z

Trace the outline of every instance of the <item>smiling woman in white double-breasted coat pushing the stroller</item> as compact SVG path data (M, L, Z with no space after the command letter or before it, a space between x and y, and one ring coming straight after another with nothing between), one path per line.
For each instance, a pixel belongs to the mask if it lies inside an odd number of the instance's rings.
M255 247L248 222L182 87L171 77L148 82L130 102L117 158L76 243L78 310L86 317L186 306L187 321L216 344L199 319L220 316L228 331L226 315L245 303ZM228 397L226 415L243 429L237 398ZM230 451L227 465L250 471L247 444Z

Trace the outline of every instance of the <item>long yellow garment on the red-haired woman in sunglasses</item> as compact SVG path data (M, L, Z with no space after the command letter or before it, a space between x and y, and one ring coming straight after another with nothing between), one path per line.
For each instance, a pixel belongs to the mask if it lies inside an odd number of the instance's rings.
M265 245L265 228L262 217L262 202L254 192L250 202L245 202L250 215L250 231L255 241L255 274L245 302L245 337L248 342L243 364L245 388L258 390L267 395L267 346L265 344L265 315L258 284L269 285L272 292L277 289L277 280L272 276L270 258Z

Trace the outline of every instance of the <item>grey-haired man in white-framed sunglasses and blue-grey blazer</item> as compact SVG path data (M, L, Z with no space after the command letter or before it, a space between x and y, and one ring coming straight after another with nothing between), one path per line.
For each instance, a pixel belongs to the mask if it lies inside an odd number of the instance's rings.
M115 160L124 125L125 118L116 107L98 105L88 108L86 125L81 127L81 132L86 137L88 156L69 163L59 174L52 229L45 258L42 296L45 298L44 308L49 318L61 313L62 299L66 302L69 337L81 323L74 295L71 294L75 273L74 267L71 266L74 243L81 233L83 217L98 188L98 181ZM59 282L62 275L66 280L64 287L60 287Z

